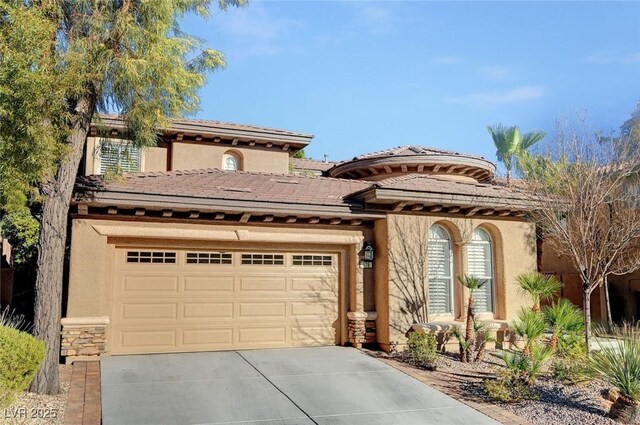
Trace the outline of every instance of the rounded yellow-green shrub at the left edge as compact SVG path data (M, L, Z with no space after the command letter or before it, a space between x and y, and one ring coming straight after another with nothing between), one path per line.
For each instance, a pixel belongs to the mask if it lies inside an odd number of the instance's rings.
M44 359L44 342L28 333L0 326L0 409L24 391Z

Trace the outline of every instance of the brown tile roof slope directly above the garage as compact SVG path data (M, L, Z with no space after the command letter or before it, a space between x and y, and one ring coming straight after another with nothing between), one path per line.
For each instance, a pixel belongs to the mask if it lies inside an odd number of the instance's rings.
M349 194L370 186L358 180L205 169L127 174L114 182L95 175L81 177L76 191L348 206L359 202L345 200Z

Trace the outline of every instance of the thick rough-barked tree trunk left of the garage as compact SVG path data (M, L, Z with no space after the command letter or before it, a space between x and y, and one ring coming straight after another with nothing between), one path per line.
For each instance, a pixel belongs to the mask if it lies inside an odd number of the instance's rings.
M62 308L62 270L67 239L67 220L73 186L91 126L95 101L81 99L68 136L70 152L61 162L55 178L43 190L44 205L40 223L38 268L36 275L35 336L46 344L45 358L31 383L31 391L57 394L59 391L60 316Z

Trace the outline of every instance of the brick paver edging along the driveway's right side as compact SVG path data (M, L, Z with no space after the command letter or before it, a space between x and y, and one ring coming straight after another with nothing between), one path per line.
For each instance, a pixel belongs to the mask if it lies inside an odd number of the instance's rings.
M480 413L483 413L489 416L496 421L503 423L505 425L532 425L531 422L527 421L524 418L521 418L508 410L501 408L500 406L496 406L495 404L489 403L477 403L475 401L467 400L464 396L456 391L455 388L447 385L447 382L451 380L451 376L447 373L443 372L431 372L422 369L418 369L414 366L408 365L406 363L402 363L398 360L393 360L384 357L373 356L378 360L388 364L389 366L406 373L412 378L417 379L418 381L425 383L431 387L434 387L438 391L441 391L447 394L450 397L455 398L461 403L466 404L472 409L477 410Z

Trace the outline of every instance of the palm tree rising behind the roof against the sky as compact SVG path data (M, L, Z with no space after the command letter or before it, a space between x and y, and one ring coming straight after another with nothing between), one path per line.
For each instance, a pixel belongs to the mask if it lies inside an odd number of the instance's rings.
M518 126L505 127L502 124L488 126L487 131L496 146L498 161L507 169L507 183L511 181L512 169L518 158L526 156L527 150L546 136L544 131L531 131L523 135Z

